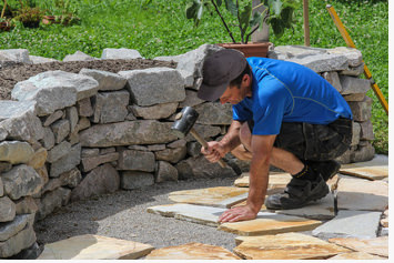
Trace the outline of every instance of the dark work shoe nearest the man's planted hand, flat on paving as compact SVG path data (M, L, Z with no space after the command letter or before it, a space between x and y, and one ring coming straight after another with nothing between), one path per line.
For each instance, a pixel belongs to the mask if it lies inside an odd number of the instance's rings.
M300 209L329 192L329 185L320 174L314 181L293 178L283 193L272 194L265 200L265 206L270 210Z

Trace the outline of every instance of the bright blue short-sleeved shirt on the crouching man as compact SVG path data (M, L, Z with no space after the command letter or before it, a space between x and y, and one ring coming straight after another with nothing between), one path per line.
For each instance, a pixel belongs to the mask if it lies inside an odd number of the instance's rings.
M249 58L252 97L233 105L233 119L254 121L252 134L279 134L282 122L329 124L352 119L343 97L321 75L297 63Z

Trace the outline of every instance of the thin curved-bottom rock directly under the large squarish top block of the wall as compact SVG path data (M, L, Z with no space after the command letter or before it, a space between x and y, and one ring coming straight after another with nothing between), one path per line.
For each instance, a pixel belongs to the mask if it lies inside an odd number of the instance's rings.
M131 105L131 111L135 117L145 120L165 119L175 113L178 102L162 103L152 107Z

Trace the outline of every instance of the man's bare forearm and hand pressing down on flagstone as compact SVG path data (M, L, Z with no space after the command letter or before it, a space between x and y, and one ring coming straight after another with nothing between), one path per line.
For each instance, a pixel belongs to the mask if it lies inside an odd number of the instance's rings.
M276 135L252 136L252 162L250 170L249 195L246 205L225 211L220 222L252 220L264 203L269 184L270 158Z

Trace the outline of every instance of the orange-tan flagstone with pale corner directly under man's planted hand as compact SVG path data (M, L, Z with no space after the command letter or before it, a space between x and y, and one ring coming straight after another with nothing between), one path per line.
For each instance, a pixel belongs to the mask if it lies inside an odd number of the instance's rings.
M321 221L299 216L259 212L257 218L249 221L223 223L219 230L239 235L266 235L285 232L309 231L321 225Z

